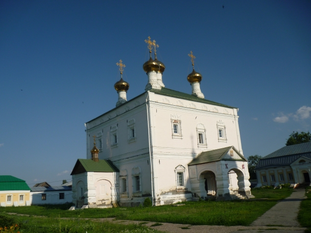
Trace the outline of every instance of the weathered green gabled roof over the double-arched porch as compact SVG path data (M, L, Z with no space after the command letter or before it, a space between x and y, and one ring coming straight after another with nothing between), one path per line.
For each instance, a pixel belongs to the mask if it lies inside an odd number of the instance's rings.
M240 159L224 159L223 157L228 153L230 149L233 149L240 157ZM228 161L247 161L234 146L228 146L220 149L203 151L196 158L194 158L188 165L197 165L202 163L211 163L220 160Z

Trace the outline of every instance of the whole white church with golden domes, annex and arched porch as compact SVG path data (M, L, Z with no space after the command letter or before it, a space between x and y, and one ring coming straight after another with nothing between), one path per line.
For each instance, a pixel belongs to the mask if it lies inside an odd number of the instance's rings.
M109 208L137 206L146 197L155 206L252 197L238 109L204 99L192 52L192 93L165 88L157 45L150 37L146 42L145 92L127 101L129 84L122 79L120 61L116 108L86 123L86 159L72 170L73 203Z

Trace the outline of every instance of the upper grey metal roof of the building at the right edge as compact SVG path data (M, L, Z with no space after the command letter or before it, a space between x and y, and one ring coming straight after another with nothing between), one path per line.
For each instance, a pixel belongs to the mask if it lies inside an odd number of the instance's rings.
M308 152L311 152L311 142L284 146L281 149L278 149L277 151L274 151L273 153L268 154L267 156L263 157L263 159L281 157L281 156L286 156L286 155L302 154L302 153L308 153Z

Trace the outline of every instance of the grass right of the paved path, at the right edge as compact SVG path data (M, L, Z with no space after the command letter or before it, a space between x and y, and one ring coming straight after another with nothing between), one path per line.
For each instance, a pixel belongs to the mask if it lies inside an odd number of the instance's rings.
M311 233L311 187L306 189L307 199L303 200L300 204L298 213L298 221L302 227L307 227L306 233Z

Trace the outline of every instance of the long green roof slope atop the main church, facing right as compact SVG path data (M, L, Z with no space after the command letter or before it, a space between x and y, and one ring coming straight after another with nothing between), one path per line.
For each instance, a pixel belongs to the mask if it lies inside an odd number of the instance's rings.
M228 106L228 105L220 104L220 103L217 103L217 102L214 102L214 101L211 101L211 100L202 99L202 98L199 98L199 97L194 96L192 94L187 94L187 93L183 93L183 92L177 92L177 91L174 91L174 90L171 90L171 89L168 89L168 88L162 88L161 90L151 89L150 92L159 93L159 94L163 94L163 95L167 95L167 96L171 96L171 97L176 97L176 98L182 98L182 99L197 101L197 102L206 103L206 104L212 104L212 105L226 107L226 108L235 108L235 107L231 107L231 106Z

